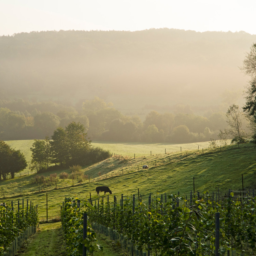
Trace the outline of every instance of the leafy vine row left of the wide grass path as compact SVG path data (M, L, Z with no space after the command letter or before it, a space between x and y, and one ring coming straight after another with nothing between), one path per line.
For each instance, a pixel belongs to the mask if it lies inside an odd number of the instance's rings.
M13 202L11 207L0 205L0 255L14 255L22 243L32 233L35 233L38 223L38 209L27 200L27 209L24 201L20 208L19 201L17 212L14 213Z

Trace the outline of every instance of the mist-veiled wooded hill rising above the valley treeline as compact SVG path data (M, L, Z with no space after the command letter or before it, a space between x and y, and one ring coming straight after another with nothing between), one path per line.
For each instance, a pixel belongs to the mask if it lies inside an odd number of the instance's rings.
M124 114L243 104L243 31L46 31L0 37L0 99L79 104L98 96ZM226 109L224 109L226 111Z

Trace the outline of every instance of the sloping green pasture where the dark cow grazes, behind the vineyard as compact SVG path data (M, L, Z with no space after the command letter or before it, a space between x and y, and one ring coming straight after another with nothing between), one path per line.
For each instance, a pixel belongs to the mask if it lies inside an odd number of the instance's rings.
M17 149L19 149L18 143L20 142L13 142ZM92 166L84 166L84 174L90 177L90 182L89 180L83 183L74 181L73 185L72 180L59 180L57 187L56 184L40 187L40 192L39 186L30 182L36 173L28 175L24 172L21 177L18 175L13 180L1 181L0 201L7 203L13 201L17 209L18 200L21 202L24 199L25 205L27 199L32 200L34 205L38 205L39 218L43 221L46 219L46 193L49 220L60 215L60 206L65 197L76 196L85 200L90 197L91 193L93 201L97 203L99 197L97 197L95 187L101 185L109 186L112 190L111 202L113 202L114 195L117 196L117 200L120 199L121 194L128 197L135 194L138 197L138 188L144 200L147 199L149 193L157 196L180 192L182 196L189 196L190 191L193 190L193 177L195 177L195 191L200 193L205 190L212 193L219 189L221 195L224 195L228 189L240 191L242 189L241 174L243 174L246 190L255 188L256 185L256 149L251 143L239 147L232 145L212 149L208 148L209 142L182 145L93 144L113 151L111 153L122 155L126 160L111 157ZM139 154L140 149L142 153ZM144 164L148 165L149 169L142 170ZM59 174L62 171L54 172ZM65 171L70 172L69 169ZM49 176L50 172L43 175ZM5 198L3 198L3 193ZM103 193L100 193L100 200L102 196Z

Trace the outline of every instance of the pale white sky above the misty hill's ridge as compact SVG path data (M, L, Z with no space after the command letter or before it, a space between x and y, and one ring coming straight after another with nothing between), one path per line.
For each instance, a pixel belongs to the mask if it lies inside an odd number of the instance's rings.
M0 0L0 35L47 30L245 31L255 0Z

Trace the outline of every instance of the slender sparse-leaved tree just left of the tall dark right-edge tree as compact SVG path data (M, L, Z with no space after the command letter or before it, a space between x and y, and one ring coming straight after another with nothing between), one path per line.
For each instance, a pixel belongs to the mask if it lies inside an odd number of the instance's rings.
M228 119L229 133L233 137L233 140L243 143L245 131L242 129L242 113L239 111L239 106L235 104L229 106L226 116Z

